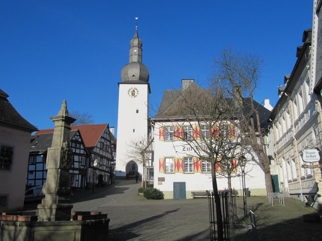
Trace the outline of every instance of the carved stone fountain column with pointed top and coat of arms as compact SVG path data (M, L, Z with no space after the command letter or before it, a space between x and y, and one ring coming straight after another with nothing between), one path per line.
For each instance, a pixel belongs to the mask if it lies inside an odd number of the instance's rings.
M69 116L66 100L63 100L58 114L50 119L55 122L55 126L52 147L47 152L47 181L43 187L45 197L38 205L38 221L67 221L71 220L73 207L68 198L71 193L69 168L72 163L69 133L70 125L76 119Z

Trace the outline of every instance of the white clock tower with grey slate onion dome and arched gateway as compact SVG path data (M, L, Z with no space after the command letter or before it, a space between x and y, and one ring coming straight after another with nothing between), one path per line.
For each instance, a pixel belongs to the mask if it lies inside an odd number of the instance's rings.
M130 40L129 63L121 70L122 82L118 83L118 129L115 174L125 178L127 173L143 174L143 166L127 155L131 140L148 137L149 71L142 64L142 40L137 29ZM134 158L133 158L134 159Z

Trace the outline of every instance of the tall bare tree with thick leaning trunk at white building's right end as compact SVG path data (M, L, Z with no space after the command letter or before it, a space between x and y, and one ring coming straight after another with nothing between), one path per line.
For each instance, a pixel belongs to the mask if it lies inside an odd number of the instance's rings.
M260 156L265 173L266 192L273 192L270 163L264 152L264 132L269 111L266 111L266 120L260 118L261 106L254 101L254 93L259 87L263 59L251 53L234 51L232 48L223 49L218 57L214 58L214 76L211 79L213 88L222 86L236 101L241 111L243 126L241 130L248 135L252 148ZM263 114L263 113L262 113Z

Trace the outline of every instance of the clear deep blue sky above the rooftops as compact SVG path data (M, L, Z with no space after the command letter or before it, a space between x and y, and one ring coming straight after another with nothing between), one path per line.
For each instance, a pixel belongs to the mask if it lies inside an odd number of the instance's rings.
M53 128L62 100L117 126L118 82L138 33L150 73L150 105L193 78L206 87L223 47L265 59L258 102L278 100L313 1L1 1L0 88L39 129Z

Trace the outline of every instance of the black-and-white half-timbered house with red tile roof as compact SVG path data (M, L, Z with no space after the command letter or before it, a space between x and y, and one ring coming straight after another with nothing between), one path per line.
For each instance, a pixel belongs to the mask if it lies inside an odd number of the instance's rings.
M85 160L86 165L82 165L84 163L82 155L76 155L70 171L71 182L78 186L81 183L81 187L110 184L111 164L114 161L113 151L115 151L112 145L116 145L116 138L109 130L109 124L71 126L71 132L75 130L78 130L80 134L79 137L75 136L76 139L71 142L70 148L75 155L86 150L90 158L88 161ZM35 135L44 133L53 133L53 129L39 130Z

